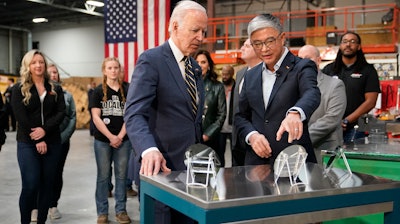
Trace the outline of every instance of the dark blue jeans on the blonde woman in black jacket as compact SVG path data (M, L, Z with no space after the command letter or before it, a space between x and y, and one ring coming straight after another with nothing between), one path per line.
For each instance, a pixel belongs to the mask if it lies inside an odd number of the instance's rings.
M19 197L21 224L31 222L31 211L38 209L38 224L44 224L50 207L57 164L61 157L61 143L47 144L47 153L41 155L35 144L17 143L18 165L22 190Z

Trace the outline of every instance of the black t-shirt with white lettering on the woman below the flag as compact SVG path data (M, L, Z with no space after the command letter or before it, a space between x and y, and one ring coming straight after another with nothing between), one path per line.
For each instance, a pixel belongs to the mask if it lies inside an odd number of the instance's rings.
M123 88L124 96L127 95L127 88ZM107 101L103 101L103 85L97 86L92 93L92 100L89 102L89 108L100 108L100 118L107 126L108 130L117 135L124 124L125 102L122 102L120 91L115 91L107 86ZM102 142L110 142L97 128L93 133L95 139ZM124 140L128 137L125 135Z

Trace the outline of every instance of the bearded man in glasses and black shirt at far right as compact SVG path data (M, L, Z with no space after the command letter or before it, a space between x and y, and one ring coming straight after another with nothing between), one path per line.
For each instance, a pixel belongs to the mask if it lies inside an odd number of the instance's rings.
M354 127L362 115L375 107L380 83L374 66L365 59L357 33L342 35L335 61L325 66L322 72L338 77L346 87L347 105L342 120L344 143L364 138L365 133Z

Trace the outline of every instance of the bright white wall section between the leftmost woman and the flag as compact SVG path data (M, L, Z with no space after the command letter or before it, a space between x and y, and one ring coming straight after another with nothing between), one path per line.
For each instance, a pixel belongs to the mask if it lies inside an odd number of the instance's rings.
M32 40L50 61L61 68L62 78L101 76L104 58L103 22L91 22L75 27L32 31Z

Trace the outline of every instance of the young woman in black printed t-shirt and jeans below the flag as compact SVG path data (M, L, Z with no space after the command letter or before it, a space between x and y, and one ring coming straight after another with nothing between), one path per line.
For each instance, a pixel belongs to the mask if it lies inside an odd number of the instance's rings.
M126 213L126 176L132 146L126 135L124 107L127 88L120 80L121 65L117 58L106 58L102 64L103 83L92 94L90 109L94 131L97 164L97 223L108 223L108 191L111 163L115 173L115 214L119 223L130 223Z

